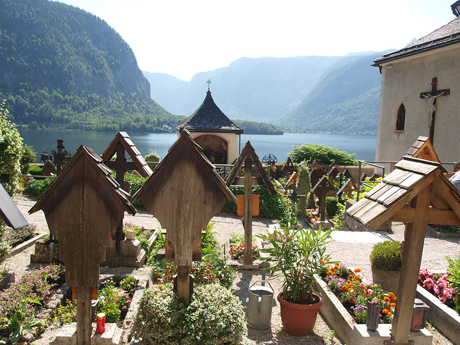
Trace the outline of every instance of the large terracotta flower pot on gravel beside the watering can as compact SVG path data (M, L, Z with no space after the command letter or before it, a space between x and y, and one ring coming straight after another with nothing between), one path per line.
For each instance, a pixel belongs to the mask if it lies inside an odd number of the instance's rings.
M313 294L314 304L296 304L287 302L278 295L277 300L281 307L281 323L286 333L292 335L308 335L313 331L316 316L319 308L323 305L323 300L318 295Z

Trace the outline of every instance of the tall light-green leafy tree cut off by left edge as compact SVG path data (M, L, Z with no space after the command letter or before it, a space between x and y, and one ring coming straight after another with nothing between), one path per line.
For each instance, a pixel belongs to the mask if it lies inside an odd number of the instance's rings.
M5 100L0 104L0 181L13 198L19 188L17 174L20 174L19 160L22 152L22 138L8 120L9 112Z

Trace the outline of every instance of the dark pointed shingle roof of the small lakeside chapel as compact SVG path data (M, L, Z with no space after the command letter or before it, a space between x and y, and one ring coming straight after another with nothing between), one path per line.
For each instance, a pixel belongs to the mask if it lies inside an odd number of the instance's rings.
M186 121L176 127L179 132L183 129L190 132L244 133L243 129L228 119L214 103L211 91L206 93L206 97L198 109Z

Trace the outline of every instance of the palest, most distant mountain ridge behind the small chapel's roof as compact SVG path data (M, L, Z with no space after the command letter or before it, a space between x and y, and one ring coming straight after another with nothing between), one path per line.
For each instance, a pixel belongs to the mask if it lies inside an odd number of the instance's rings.
M338 56L289 58L240 58L227 67L193 76L190 82L175 77L143 72L150 82L152 98L175 114L190 116L212 81L213 99L231 119L271 122L290 104L301 101L317 79Z

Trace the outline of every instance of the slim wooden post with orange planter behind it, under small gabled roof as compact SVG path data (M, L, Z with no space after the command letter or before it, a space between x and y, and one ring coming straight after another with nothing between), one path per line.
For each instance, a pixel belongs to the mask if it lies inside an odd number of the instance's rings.
M252 160L244 160L244 252L243 263L252 265Z

